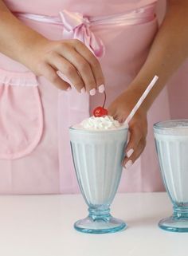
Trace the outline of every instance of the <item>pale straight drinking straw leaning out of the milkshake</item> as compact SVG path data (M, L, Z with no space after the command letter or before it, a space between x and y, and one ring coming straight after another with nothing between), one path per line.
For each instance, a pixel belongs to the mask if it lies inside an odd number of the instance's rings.
M150 93L151 89L155 85L156 81L158 81L158 79L159 79L158 76L155 76L152 79L150 85L147 86L147 89L145 90L143 95L139 98L138 102L135 104L135 107L132 108L131 113L127 116L127 119L124 121L124 124L128 124L130 122L132 117L135 115L135 112L138 110L139 106L143 103L143 100L145 100L147 94Z

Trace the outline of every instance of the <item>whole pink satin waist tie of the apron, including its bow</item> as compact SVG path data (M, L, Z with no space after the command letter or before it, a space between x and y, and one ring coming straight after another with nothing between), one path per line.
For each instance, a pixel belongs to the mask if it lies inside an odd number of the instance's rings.
M155 18L155 3L143 6L123 14L89 17L78 12L60 11L60 17L50 17L40 14L14 13L18 18L27 18L36 22L57 24L64 27L66 39L78 39L94 53L103 57L105 47L103 41L92 32L92 26L133 26L150 22Z

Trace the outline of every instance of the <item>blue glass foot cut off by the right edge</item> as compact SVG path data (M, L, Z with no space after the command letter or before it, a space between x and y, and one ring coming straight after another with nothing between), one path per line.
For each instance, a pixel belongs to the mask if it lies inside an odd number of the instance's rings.
M188 218L174 218L174 216L171 216L162 219L159 222L159 227L172 232L188 232Z

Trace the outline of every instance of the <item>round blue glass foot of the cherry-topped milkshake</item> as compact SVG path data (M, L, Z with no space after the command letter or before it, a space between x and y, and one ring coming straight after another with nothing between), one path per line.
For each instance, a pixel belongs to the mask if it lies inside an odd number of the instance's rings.
M80 219L74 224L74 228L80 232L91 233L91 234L105 234L114 233L119 230L124 230L127 227L120 219L113 218L111 215L105 218L97 217L93 219L88 216L85 219Z

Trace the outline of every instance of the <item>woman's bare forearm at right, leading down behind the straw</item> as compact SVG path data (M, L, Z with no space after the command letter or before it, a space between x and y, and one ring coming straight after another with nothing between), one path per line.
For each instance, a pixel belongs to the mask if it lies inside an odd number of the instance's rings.
M170 0L166 17L151 46L150 53L131 89L143 93L152 77L157 85L147 96L143 107L148 109L180 65L188 57L188 1Z

